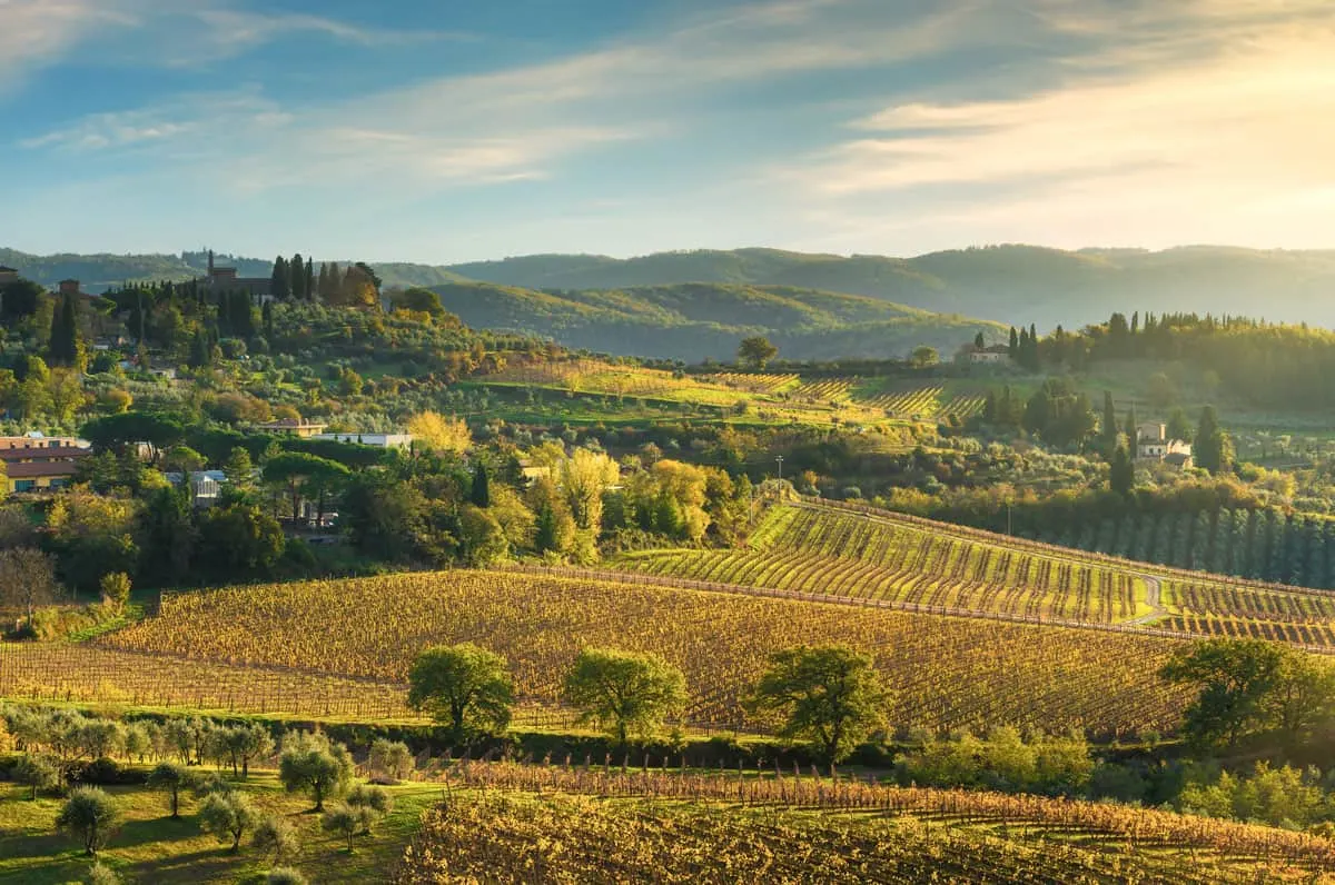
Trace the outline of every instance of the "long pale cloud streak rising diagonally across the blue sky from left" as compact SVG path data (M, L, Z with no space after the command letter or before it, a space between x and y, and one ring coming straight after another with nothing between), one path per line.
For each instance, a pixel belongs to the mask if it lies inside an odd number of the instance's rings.
M706 89L912 57L957 41L960 8L846 27L866 0L780 0L698 16L651 39L547 63L445 76L343 101L280 108L259 92L232 107L194 96L103 113L25 141L32 150L200 155L250 191L292 182L376 179L457 186L546 178L551 164L611 143L680 133ZM284 28L395 40L307 16L208 12L236 40ZM226 25L226 27L224 27ZM892 27L893 25L893 27ZM202 111L203 108L203 111ZM356 125L348 125L356 120Z

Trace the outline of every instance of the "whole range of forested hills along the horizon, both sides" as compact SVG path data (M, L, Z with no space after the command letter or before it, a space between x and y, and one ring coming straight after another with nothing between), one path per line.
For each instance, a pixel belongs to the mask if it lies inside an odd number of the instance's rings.
M264 276L270 268L260 259L218 260L238 266L242 276ZM0 248L0 264L47 284L76 278L89 291L124 280L186 279L206 263L202 251L36 256ZM1048 331L1101 322L1113 311L1232 314L1335 327L1335 250L996 246L900 259L742 248L375 268L387 286L438 288L446 306L473 326L614 352L661 355L668 347L682 358L720 355L725 339L753 331L793 344L801 339L798 352L785 350L794 356L882 355L912 347L906 342L926 328L945 331L914 344L941 346L968 328L988 328L991 339L991 327L980 320ZM663 338L669 328L674 331ZM882 332L890 338L877 339ZM690 347L680 347L682 340ZM840 350L845 347L854 351Z

